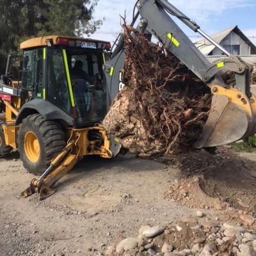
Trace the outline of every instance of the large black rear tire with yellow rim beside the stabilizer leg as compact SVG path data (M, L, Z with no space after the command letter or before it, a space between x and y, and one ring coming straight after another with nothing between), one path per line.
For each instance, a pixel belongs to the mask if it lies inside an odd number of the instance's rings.
M18 132L20 159L28 172L40 175L51 160L65 148L67 141L61 125L39 114L22 120Z

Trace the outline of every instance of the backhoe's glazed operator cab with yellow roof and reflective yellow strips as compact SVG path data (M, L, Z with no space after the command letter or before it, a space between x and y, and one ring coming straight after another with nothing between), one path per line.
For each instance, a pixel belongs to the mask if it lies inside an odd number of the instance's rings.
M103 120L107 91L102 65L109 42L44 36L23 42L21 106L44 99L83 127Z

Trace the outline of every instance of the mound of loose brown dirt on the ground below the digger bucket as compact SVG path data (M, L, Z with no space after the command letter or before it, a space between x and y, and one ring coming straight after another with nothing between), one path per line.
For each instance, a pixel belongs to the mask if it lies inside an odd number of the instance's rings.
M230 152L194 152L178 162L181 177L173 182L166 198L191 207L234 207L256 215L255 162Z

